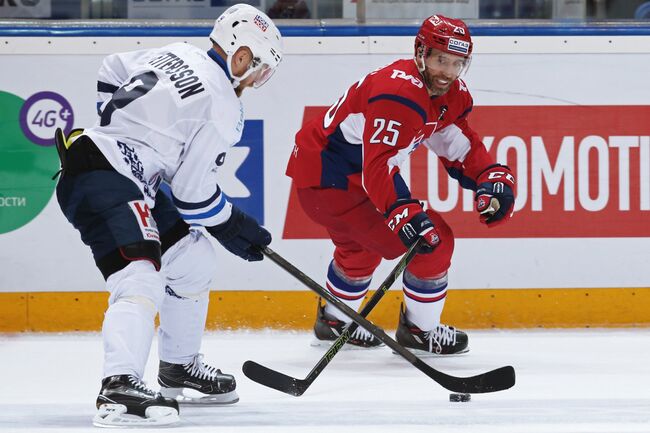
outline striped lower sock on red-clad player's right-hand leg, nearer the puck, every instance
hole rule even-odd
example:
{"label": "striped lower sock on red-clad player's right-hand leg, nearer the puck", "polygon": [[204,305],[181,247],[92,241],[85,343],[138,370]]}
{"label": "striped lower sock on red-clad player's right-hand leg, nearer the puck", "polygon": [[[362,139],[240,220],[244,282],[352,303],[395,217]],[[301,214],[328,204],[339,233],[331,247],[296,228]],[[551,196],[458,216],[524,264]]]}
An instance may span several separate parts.
{"label": "striped lower sock on red-clad player's right-hand leg, nearer the puck", "polygon": [[408,270],[402,278],[406,318],[423,331],[440,324],[440,315],[447,297],[447,272],[421,279]]}

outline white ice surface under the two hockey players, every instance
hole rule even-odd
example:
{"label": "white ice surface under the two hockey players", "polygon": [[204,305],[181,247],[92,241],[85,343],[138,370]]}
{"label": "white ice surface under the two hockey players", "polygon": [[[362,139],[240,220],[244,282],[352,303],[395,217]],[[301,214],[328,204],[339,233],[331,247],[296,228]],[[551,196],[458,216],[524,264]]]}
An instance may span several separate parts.
{"label": "white ice surface under the two hockey players", "polygon": [[[650,432],[650,330],[472,331],[467,355],[431,359],[470,376],[511,364],[517,384],[471,402],[389,349],[337,355],[302,397],[250,381],[247,359],[304,378],[323,354],[307,332],[206,335],[206,361],[238,380],[240,402],[182,408],[174,432],[626,433]],[[156,386],[156,347],[145,380]],[[97,432],[98,334],[0,336],[0,432]],[[147,429],[151,431],[152,429]],[[131,430],[133,431],[133,430]]]}

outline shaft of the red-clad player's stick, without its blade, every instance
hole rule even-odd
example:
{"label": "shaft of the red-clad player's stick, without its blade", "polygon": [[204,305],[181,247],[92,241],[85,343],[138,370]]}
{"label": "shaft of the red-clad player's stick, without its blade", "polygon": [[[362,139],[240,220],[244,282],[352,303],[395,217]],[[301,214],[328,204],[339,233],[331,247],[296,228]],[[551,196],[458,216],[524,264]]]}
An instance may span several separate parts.
{"label": "shaft of the red-clad player's stick, without its blade", "polygon": [[[393,283],[395,283],[395,280],[404,272],[404,269],[408,266],[408,264],[411,262],[413,257],[417,254],[417,248],[420,245],[420,242],[422,241],[422,238],[418,239],[416,243],[411,245],[411,247],[408,249],[408,251],[402,256],[402,258],[397,262],[397,265],[393,268],[392,271],[388,274],[386,279],[384,280],[383,283],[379,286],[377,291],[375,292],[374,295],[368,299],[368,302],[364,305],[364,307],[361,309],[359,312],[359,315],[361,317],[367,317],[368,314],[375,308],[375,306],[379,303],[381,298],[386,294],[388,289],[391,288]],[[341,350],[341,348],[345,345],[345,343],[348,342],[350,337],[352,336],[352,333],[359,327],[359,324],[356,322],[352,322],[350,326],[346,327],[343,333],[332,343],[332,347],[329,348],[327,352],[325,352],[325,355],[318,361],[318,363],[314,366],[314,368],[311,369],[307,377],[304,379],[302,382],[303,384],[303,390],[302,392],[305,392],[307,388],[316,380],[316,378],[321,374],[321,372],[327,367],[327,364],[329,364],[332,359],[336,356],[336,354]]]}

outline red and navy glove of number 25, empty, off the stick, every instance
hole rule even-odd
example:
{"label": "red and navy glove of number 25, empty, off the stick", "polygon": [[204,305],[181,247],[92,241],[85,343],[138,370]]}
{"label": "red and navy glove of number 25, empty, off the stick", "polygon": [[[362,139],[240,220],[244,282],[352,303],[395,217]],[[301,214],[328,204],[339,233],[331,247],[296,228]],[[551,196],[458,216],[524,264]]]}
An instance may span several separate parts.
{"label": "red and navy glove of number 25, empty, off the stick", "polygon": [[505,223],[514,212],[515,177],[506,165],[494,164],[476,179],[476,211],[482,223],[494,227]]}

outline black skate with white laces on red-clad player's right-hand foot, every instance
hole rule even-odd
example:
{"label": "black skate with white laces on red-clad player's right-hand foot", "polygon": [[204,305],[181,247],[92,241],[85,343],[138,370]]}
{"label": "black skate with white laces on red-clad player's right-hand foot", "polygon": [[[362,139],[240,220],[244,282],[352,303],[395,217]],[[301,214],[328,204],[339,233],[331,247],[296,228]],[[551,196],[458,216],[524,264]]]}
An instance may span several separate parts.
{"label": "black skate with white laces on red-clad player's right-hand foot", "polygon": [[469,352],[466,333],[443,324],[431,331],[423,331],[408,321],[403,306],[400,309],[395,339],[420,356],[458,355]]}

